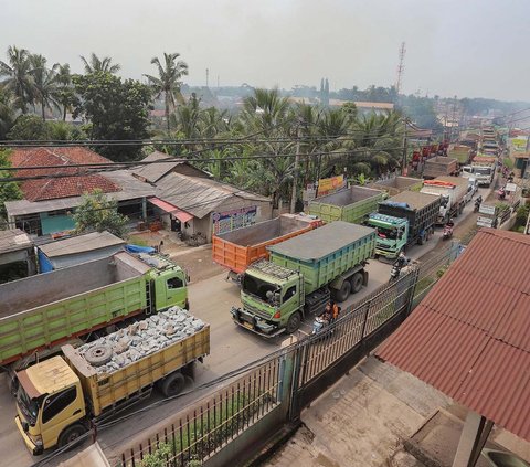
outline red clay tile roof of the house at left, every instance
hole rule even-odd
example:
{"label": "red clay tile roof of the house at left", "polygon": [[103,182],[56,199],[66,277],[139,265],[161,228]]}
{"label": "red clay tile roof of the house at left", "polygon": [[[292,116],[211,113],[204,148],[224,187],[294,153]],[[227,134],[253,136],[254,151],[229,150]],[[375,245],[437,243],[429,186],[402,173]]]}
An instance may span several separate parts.
{"label": "red clay tile roof of the house at left", "polygon": [[[64,169],[20,170],[18,177],[35,177],[49,174],[75,176],[77,163],[108,163],[110,160],[83,147],[68,148],[20,148],[11,152],[11,164],[19,167],[64,166]],[[28,201],[54,200],[59,198],[78,197],[84,192],[100,189],[105,193],[120,191],[121,188],[105,177],[91,173],[78,177],[62,177],[50,179],[26,180],[21,184]]]}

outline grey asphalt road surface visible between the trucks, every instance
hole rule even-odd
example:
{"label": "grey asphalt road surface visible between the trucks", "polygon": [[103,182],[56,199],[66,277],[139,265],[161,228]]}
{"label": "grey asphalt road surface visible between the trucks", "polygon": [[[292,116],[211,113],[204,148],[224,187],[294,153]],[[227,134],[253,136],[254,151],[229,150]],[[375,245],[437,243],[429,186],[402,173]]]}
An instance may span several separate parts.
{"label": "grey asphalt road surface visible between the trucks", "polygon": [[[486,199],[489,191],[488,189],[480,189],[479,194],[483,195],[483,199]],[[473,202],[467,204],[464,215],[456,219],[455,224],[463,222],[466,215],[473,212]],[[414,259],[422,257],[438,244],[441,237],[442,231],[437,229],[430,242],[421,246],[410,247],[407,256]],[[390,277],[390,264],[372,259],[368,266],[370,276],[368,286],[359,294],[350,296],[341,306],[351,305],[385,284]],[[232,306],[240,304],[240,289],[233,283],[226,282],[225,277],[226,274],[223,273],[190,285],[191,311],[211,326],[211,354],[204,360],[203,364],[199,363],[197,365],[194,384],[191,381],[188,384],[188,390],[191,393],[161,406],[138,413],[131,418],[98,433],[99,444],[107,455],[120,453],[124,443],[141,436],[142,431],[152,429],[152,426],[157,424],[163,426],[163,420],[168,414],[174,414],[194,400],[206,395],[215,386],[199,391],[193,391],[193,388],[210,383],[227,372],[266,357],[280,348],[282,343],[290,340],[289,336],[266,340],[234,325],[230,309]],[[311,320],[305,322],[300,328],[300,336],[309,333],[311,326]],[[222,383],[219,383],[219,385],[222,385]],[[160,399],[161,396],[155,393],[149,402],[136,405],[131,408],[131,412],[146,407]],[[33,457],[28,452],[17,431],[14,401],[7,390],[4,374],[0,374],[0,465],[11,467],[31,466],[39,458]],[[47,465],[54,466],[63,458],[61,456]]]}

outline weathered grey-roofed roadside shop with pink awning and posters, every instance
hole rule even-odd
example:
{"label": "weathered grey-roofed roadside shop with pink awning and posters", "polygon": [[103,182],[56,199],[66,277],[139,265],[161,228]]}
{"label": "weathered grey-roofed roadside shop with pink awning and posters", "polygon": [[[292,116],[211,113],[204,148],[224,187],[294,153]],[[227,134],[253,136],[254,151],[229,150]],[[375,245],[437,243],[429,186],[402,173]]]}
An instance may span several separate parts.
{"label": "weathered grey-roofed roadside shop with pink awning and posters", "polygon": [[156,188],[148,199],[163,225],[189,236],[229,232],[272,217],[268,198],[215,181],[182,159],[153,152],[147,166],[131,169],[135,177]]}

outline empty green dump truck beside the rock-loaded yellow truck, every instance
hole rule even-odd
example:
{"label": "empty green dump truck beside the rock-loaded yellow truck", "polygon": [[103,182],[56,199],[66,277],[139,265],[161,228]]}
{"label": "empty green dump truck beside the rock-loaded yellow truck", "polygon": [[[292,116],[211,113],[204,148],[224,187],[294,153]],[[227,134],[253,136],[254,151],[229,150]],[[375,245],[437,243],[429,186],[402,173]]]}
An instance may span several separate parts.
{"label": "empty green dump truck beside the rock-loaded yellow truck", "polygon": [[119,252],[0,285],[0,365],[25,368],[123,321],[188,308],[186,272],[160,255]]}

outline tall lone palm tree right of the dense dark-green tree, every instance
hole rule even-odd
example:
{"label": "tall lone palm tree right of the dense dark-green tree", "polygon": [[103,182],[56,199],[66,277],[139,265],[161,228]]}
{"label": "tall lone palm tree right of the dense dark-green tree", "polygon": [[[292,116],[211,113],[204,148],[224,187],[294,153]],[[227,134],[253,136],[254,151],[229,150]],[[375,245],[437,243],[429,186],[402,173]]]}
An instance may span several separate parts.
{"label": "tall lone palm tree right of the dense dark-green tree", "polygon": [[176,100],[183,103],[182,95],[180,94],[180,85],[182,82],[180,78],[188,75],[188,64],[181,60],[177,60],[180,56],[179,53],[163,53],[163,64],[155,56],[151,59],[151,64],[156,65],[158,71],[158,77],[152,75],[144,75],[149,79],[150,85],[155,89],[156,97],[159,98],[163,93],[163,102],[166,105],[166,121],[168,124],[168,132],[170,130],[169,125],[169,108],[174,109]]}

